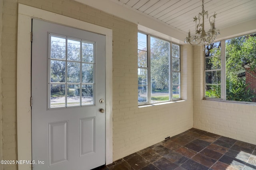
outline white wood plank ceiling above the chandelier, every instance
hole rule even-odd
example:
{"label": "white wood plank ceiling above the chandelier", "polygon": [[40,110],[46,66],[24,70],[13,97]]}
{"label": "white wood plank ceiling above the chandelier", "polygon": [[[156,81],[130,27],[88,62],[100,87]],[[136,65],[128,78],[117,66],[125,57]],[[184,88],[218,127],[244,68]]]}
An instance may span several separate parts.
{"label": "white wood plank ceiling above the chandelier", "polygon": [[[160,20],[176,29],[195,31],[193,18],[202,12],[202,0],[113,0],[154,20]],[[256,19],[256,0],[204,0],[209,16],[216,12],[216,27],[222,29]],[[205,21],[205,29],[210,29]]]}

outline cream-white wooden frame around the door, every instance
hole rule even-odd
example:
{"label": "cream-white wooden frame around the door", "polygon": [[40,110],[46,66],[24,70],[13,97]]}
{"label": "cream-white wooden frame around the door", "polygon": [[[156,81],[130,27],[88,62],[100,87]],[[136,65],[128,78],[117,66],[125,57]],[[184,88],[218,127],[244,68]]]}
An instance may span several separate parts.
{"label": "cream-white wooden frame around the door", "polygon": [[[18,160],[32,160],[31,145],[31,41],[32,18],[38,18],[94,33],[106,35],[106,164],[113,162],[112,141],[112,30],[18,4],[17,43],[17,138]],[[19,170],[30,170],[30,164],[19,164]]]}

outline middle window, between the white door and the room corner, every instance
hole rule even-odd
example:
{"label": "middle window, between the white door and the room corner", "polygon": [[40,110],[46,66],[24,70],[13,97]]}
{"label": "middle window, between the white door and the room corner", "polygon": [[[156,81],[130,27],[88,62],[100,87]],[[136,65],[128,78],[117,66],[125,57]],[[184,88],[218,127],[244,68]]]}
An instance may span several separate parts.
{"label": "middle window, between the white door and the room corner", "polygon": [[180,99],[180,46],[138,32],[138,103]]}

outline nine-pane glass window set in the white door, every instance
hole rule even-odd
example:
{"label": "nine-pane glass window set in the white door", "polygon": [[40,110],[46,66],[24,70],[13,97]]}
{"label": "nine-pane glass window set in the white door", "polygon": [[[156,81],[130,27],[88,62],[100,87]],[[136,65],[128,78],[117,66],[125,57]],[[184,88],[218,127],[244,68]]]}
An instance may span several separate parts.
{"label": "nine-pane glass window set in the white door", "polygon": [[94,45],[49,33],[49,109],[94,104]]}

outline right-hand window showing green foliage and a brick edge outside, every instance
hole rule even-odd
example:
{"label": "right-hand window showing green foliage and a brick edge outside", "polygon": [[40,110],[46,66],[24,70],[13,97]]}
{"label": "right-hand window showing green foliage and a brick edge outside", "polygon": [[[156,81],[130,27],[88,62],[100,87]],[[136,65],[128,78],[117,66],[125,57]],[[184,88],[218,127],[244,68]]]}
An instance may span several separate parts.
{"label": "right-hand window showing green foliage and a brick edge outside", "polygon": [[255,54],[256,34],[206,46],[205,97],[256,102]]}

